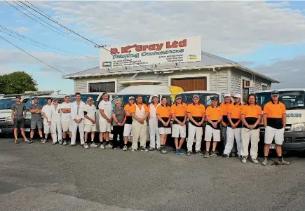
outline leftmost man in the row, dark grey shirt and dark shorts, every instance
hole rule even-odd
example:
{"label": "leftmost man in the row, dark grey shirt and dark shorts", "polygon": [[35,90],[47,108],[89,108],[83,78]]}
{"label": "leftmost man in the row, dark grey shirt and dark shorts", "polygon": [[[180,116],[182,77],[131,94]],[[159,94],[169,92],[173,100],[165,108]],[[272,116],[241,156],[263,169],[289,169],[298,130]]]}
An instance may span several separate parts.
{"label": "leftmost man in the row, dark grey shirt and dark shorts", "polygon": [[27,109],[25,108],[25,104],[21,102],[20,96],[16,96],[16,102],[12,104],[11,110],[11,119],[14,125],[15,144],[19,144],[18,127],[20,127],[21,135],[25,142],[32,143],[29,142],[27,137],[25,137],[25,116],[27,115]]}

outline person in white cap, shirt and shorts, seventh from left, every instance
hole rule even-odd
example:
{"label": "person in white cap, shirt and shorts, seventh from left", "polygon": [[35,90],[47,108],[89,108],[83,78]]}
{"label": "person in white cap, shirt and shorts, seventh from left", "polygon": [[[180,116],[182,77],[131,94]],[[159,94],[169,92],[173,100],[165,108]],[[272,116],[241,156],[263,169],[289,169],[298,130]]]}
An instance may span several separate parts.
{"label": "person in white cap, shirt and shorts, seventh from left", "polygon": [[87,98],[87,104],[85,108],[83,109],[83,115],[85,116],[85,147],[86,149],[89,148],[88,146],[88,132],[91,132],[91,144],[90,147],[97,147],[97,145],[94,143],[94,135],[96,131],[96,107],[93,104],[92,97]]}

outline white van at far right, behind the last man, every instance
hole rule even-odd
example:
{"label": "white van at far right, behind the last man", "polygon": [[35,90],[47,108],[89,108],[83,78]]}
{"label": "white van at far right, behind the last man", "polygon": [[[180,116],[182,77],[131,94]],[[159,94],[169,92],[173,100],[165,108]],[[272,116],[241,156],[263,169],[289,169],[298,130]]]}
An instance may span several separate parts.
{"label": "white van at far right, behind the last man", "polygon": [[[264,90],[255,93],[257,104],[264,109],[264,105],[271,101],[271,92]],[[305,88],[278,89],[279,101],[286,107],[286,128],[284,132],[284,151],[305,151]],[[260,128],[259,147],[264,146],[265,128]],[[271,144],[270,149],[275,149],[276,144]],[[261,149],[259,149],[261,151]]]}

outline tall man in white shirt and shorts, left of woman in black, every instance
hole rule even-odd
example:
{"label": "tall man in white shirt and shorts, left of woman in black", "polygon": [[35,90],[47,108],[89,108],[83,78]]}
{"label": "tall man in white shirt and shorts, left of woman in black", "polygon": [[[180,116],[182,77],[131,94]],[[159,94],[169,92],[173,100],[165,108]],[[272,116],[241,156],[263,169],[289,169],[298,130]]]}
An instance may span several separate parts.
{"label": "tall man in white shirt and shorts, left of woman in black", "polygon": [[[102,101],[98,104],[98,108],[100,110],[100,149],[109,148],[112,149],[111,144],[109,144],[109,134],[111,132],[111,121],[112,121],[112,105],[109,102],[109,95],[107,93],[103,93]],[[103,137],[105,135],[106,146],[103,144]]]}

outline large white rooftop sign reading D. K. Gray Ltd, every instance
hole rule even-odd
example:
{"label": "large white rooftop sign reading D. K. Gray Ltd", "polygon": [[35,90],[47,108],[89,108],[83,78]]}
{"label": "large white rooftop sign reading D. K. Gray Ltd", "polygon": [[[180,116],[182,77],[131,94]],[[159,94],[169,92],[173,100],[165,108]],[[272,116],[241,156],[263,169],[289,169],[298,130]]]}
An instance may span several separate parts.
{"label": "large white rooftop sign reading D. K. Gray Ltd", "polygon": [[201,61],[200,36],[105,48],[100,48],[100,69]]}

